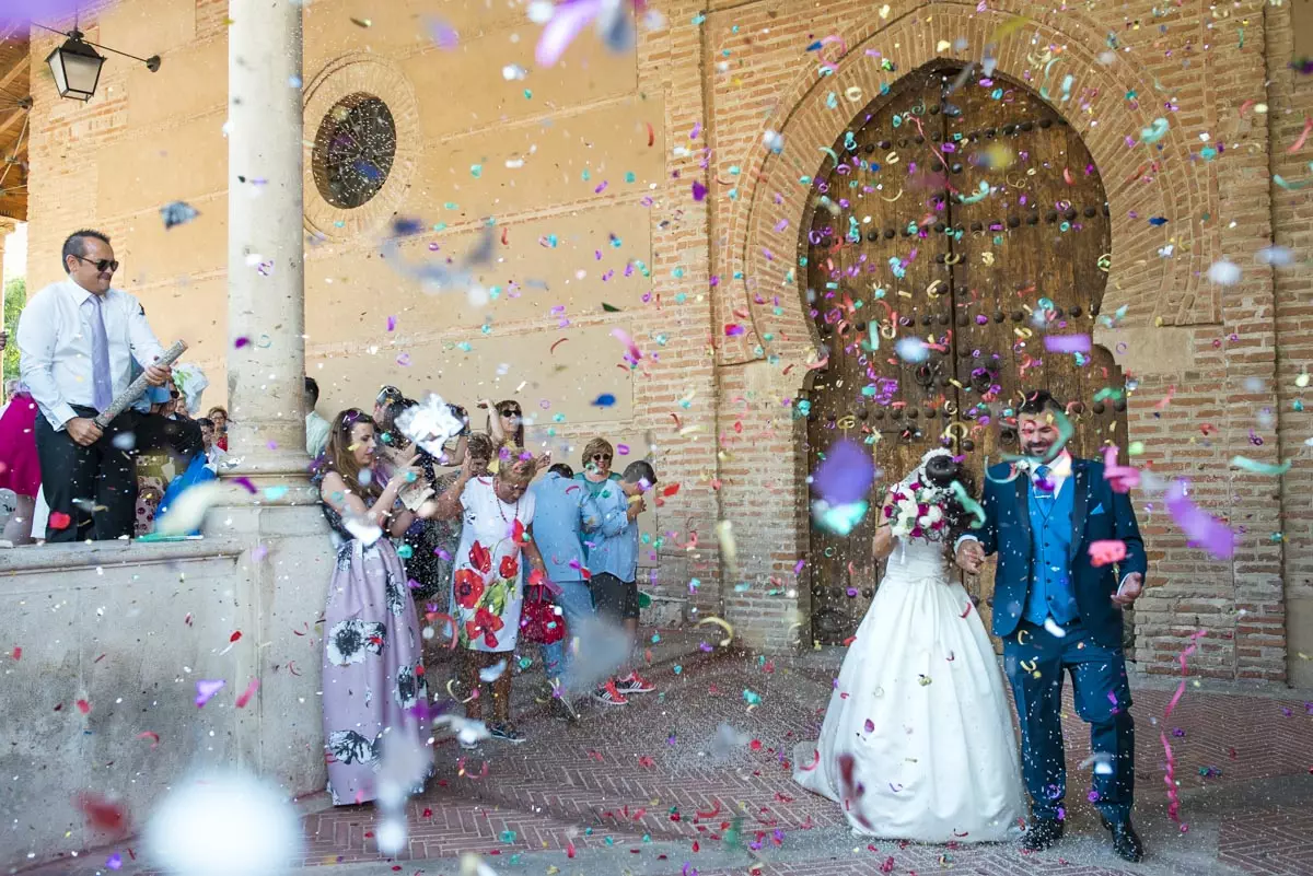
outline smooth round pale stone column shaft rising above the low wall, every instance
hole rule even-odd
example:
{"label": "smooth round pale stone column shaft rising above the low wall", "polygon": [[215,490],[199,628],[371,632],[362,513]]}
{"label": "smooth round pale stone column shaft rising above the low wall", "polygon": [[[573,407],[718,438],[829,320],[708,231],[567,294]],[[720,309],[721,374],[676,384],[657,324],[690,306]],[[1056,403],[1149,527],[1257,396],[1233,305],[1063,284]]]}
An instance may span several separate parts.
{"label": "smooth round pale stone column shaft rising above the low wall", "polygon": [[[305,483],[301,4],[231,0],[228,452],[232,476]],[[285,500],[305,501],[291,489]],[[278,500],[276,500],[278,501]]]}

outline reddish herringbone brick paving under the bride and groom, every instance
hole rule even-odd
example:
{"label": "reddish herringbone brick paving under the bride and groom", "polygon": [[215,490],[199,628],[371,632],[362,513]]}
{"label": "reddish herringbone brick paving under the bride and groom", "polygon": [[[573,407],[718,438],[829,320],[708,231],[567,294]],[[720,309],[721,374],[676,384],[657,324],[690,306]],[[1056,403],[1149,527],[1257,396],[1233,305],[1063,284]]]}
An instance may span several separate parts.
{"label": "reddish herringbone brick paving under the bride and groom", "polygon": [[[437,775],[410,803],[406,854],[378,855],[373,808],[320,808],[305,818],[301,863],[370,876],[456,876],[466,854],[498,873],[555,867],[561,876],[1313,873],[1313,707],[1196,687],[1166,728],[1183,732],[1171,742],[1188,833],[1166,817],[1158,723],[1173,691],[1134,691],[1136,821],[1150,850],[1138,867],[1107,850],[1074,768],[1067,838],[1043,855],[853,837],[836,804],[793,784],[786,759],[794,742],[814,738],[840,657],[676,657],[650,673],[660,695],[635,696],[625,708],[590,707],[575,727],[549,720],[529,699],[532,708],[520,711],[529,736],[521,746],[487,742],[466,755],[453,741],[439,744]],[[762,696],[751,711],[746,688]],[[754,742],[717,753],[721,724]],[[1088,736],[1070,702],[1065,727],[1075,765],[1088,753]],[[741,845],[726,842],[735,826]]]}

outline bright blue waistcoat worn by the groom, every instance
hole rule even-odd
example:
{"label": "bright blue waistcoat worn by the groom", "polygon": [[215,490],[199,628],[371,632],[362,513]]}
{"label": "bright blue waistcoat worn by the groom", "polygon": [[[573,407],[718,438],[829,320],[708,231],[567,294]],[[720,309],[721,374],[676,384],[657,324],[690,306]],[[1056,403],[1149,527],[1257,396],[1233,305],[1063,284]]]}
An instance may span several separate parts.
{"label": "bright blue waistcoat worn by the groom", "polygon": [[1023,616],[1037,626],[1050,615],[1062,626],[1081,615],[1067,563],[1075,489],[1075,477],[1069,476],[1057,497],[1037,496],[1039,490],[1033,487],[1027,490],[1027,511],[1031,517],[1031,587]]}

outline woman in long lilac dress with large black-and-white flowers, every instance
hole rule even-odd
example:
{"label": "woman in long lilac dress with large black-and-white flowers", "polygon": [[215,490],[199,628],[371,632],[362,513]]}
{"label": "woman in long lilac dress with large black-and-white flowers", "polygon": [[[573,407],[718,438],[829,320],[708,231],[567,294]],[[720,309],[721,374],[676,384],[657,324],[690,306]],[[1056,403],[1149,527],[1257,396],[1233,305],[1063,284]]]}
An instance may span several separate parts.
{"label": "woman in long lilac dress with large black-and-white flowers", "polygon": [[399,538],[415,519],[397,493],[418,473],[407,463],[379,484],[376,452],[373,418],[343,410],[318,475],[324,517],[341,540],[324,608],[323,661],[328,791],[339,806],[378,796],[383,746],[421,750],[429,738],[419,619],[387,538]]}

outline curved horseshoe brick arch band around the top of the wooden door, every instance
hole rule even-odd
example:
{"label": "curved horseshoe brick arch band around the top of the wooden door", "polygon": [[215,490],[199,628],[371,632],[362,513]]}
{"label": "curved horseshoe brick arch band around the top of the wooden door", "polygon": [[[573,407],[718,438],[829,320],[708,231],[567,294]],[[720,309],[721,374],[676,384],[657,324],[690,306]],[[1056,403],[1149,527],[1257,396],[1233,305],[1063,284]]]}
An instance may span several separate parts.
{"label": "curved horseshoe brick arch band around the top of the wooden door", "polygon": [[[927,10],[932,12],[928,20]],[[821,147],[840,138],[851,119],[878,100],[882,84],[892,85],[905,72],[934,62],[969,63],[966,55],[978,55],[991,38],[998,43],[997,71],[1040,92],[1081,134],[1103,174],[1112,214],[1104,313],[1127,306],[1127,321],[1140,325],[1217,320],[1220,299],[1200,282],[1211,247],[1190,222],[1200,214],[1205,197],[1192,174],[1170,170],[1188,167],[1190,143],[1171,123],[1153,144],[1140,142],[1142,130],[1152,129],[1159,115],[1170,119],[1171,113],[1150,104],[1158,94],[1155,84],[1130,60],[1116,55],[1109,64],[1100,62],[1107,50],[1103,31],[1071,12],[1062,13],[1062,28],[1044,21],[1014,28],[1011,12],[978,13],[974,5],[957,3],[920,5],[888,22],[872,13],[871,20],[842,58],[822,51],[832,64],[831,75],[818,77],[806,70],[785,89],[780,110],[762,126],[763,135],[773,130],[784,136],[783,152],[771,152],[758,138],[744,161],[751,191],[730,214],[725,273],[734,278],[726,294],[734,307],[751,313],[752,332],[726,338],[723,362],[765,357],[779,357],[785,365],[807,361],[815,338],[802,308],[806,271],[798,268],[798,228],[814,206],[810,180],[829,161]],[[1011,33],[997,38],[1003,28]],[[952,45],[966,49],[955,52]],[[1032,72],[1035,67],[1039,75]],[[1112,113],[1094,117],[1087,111],[1096,93],[1109,92],[1132,97]],[[1138,96],[1144,100],[1136,102]],[[1098,101],[1100,110],[1106,104],[1106,97]],[[1154,167],[1155,160],[1163,169]],[[1169,223],[1150,226],[1152,216]],[[1178,257],[1161,257],[1166,247]],[[794,368],[788,391],[802,389],[806,374]]]}

